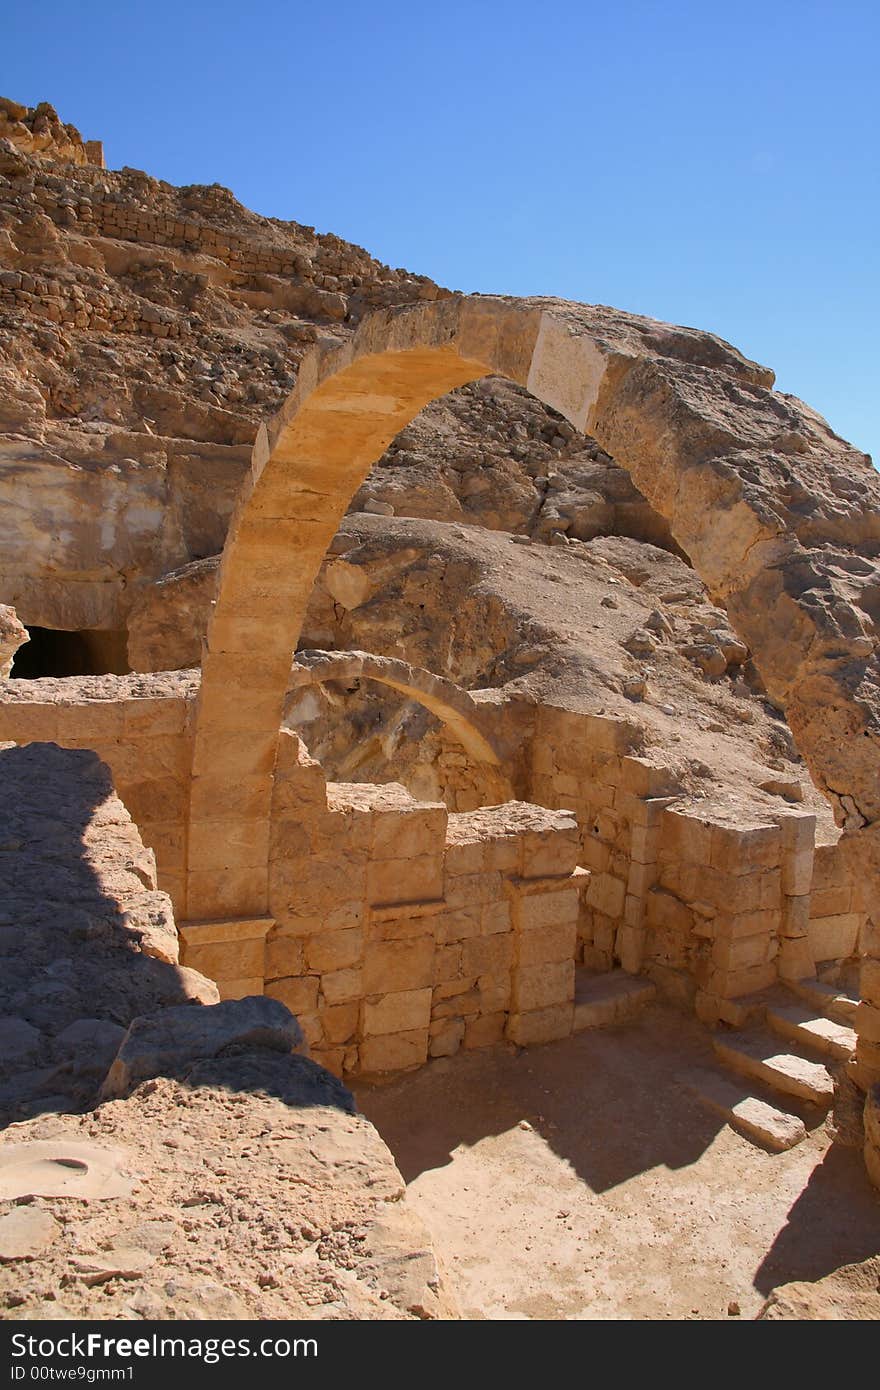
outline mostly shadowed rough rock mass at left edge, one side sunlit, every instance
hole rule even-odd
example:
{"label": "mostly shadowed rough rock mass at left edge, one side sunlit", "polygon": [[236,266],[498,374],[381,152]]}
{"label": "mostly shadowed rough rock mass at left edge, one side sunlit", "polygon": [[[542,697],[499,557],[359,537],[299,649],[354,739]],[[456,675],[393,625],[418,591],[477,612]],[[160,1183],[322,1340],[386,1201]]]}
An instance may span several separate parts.
{"label": "mostly shadowed rough rock mass at left edge, one side sunlit", "polygon": [[0,1113],[8,1120],[93,1102],[132,1019],[182,1004],[189,1012],[218,994],[177,963],[153,855],[95,753],[6,746],[0,771]]}

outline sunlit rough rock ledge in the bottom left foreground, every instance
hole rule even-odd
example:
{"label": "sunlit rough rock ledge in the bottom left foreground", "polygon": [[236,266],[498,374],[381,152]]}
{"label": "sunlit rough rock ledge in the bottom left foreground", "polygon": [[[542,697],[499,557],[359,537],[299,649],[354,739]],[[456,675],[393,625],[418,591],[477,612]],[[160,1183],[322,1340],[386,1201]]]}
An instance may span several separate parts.
{"label": "sunlit rough rock ledge in the bottom left foreground", "polygon": [[[4,1187],[4,1156],[21,1173],[35,1151],[32,1172],[86,1166],[85,1152],[125,1187],[85,1191],[76,1166],[64,1193],[26,1177]],[[25,1188],[29,1205],[10,1205]],[[388,1148],[342,1083],[298,1055],[250,1048],[85,1115],[13,1126],[0,1138],[0,1252],[21,1211],[56,1234],[0,1265],[11,1319],[99,1307],[111,1319],[457,1316]]]}

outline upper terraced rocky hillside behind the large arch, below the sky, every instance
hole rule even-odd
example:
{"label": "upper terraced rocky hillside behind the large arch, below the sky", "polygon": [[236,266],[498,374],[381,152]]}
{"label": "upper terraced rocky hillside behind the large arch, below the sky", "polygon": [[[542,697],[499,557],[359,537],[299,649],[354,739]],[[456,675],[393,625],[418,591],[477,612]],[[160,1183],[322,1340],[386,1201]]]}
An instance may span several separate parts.
{"label": "upper terraced rocky hillside behind the large arch, below the sky", "polygon": [[[222,548],[306,348],[445,291],[218,185],[89,163],[51,107],[0,113],[0,600],[120,632],[140,587]],[[506,382],[430,407],[353,509],[670,545],[594,441]]]}

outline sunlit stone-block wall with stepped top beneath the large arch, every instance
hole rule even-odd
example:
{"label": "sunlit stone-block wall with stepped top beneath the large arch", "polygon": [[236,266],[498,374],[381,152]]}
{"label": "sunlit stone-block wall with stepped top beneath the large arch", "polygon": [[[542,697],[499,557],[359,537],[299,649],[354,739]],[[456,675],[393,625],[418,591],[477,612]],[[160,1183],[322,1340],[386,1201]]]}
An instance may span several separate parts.
{"label": "sunlit stone-block wall with stepped top beneath the large arch", "polygon": [[[571,1031],[574,820],[520,802],[449,815],[396,784],[325,784],[284,734],[270,917],[188,924],[186,960],[221,992],[261,987],[338,1073],[393,1072]],[[238,924],[236,924],[238,926]]]}

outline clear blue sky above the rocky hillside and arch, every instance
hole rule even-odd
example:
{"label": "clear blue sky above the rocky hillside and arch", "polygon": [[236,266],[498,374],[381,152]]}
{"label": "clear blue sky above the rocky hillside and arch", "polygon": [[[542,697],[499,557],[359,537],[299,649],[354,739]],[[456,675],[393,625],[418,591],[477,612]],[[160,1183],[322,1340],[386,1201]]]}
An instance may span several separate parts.
{"label": "clear blue sky above the rocky hillside and arch", "polygon": [[710,328],[880,461],[877,0],[40,0],[0,92],[455,289]]}

